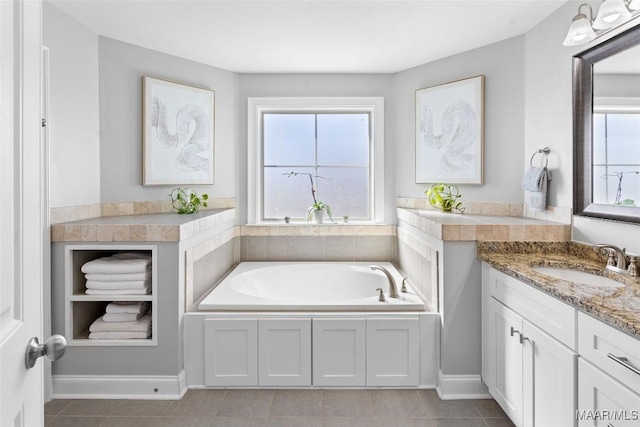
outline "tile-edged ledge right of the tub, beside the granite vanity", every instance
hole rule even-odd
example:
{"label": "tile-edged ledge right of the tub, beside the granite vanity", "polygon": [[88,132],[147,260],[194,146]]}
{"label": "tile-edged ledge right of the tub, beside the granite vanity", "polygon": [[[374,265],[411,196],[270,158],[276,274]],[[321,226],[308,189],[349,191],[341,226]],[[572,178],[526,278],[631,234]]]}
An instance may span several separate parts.
{"label": "tile-edged ledge right of the tub, beside the granite vanity", "polygon": [[398,221],[445,241],[568,241],[571,224],[527,218],[398,208]]}

